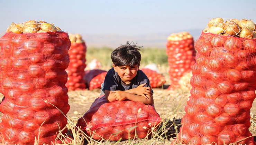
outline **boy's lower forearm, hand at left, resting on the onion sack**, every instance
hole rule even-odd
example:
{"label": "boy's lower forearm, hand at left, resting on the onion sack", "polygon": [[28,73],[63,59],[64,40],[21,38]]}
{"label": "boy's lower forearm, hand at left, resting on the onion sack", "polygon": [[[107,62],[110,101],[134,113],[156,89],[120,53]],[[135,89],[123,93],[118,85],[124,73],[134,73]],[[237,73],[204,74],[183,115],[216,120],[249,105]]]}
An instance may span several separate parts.
{"label": "boy's lower forearm, hand at left, resting on the onion sack", "polygon": [[148,99],[146,99],[143,96],[131,94],[131,93],[128,93],[125,91],[116,90],[116,91],[111,91],[111,93],[112,93],[111,96],[113,96],[115,98],[115,100],[118,100],[118,101],[128,99],[128,100],[135,101],[135,102],[142,102],[146,105],[152,105],[154,103],[153,96],[149,96],[149,95],[146,95],[148,98]]}

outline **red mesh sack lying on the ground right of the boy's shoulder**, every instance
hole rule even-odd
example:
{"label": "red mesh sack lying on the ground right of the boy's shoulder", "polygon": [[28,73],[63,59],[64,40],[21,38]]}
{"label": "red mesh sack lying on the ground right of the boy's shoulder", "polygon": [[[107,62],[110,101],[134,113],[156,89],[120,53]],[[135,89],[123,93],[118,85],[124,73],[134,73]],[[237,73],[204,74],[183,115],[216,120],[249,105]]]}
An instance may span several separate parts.
{"label": "red mesh sack lying on the ground right of the boy's shoulder", "polygon": [[142,70],[148,77],[151,88],[162,87],[162,85],[166,82],[164,76],[158,74],[154,70],[148,68],[141,68],[140,70]]}

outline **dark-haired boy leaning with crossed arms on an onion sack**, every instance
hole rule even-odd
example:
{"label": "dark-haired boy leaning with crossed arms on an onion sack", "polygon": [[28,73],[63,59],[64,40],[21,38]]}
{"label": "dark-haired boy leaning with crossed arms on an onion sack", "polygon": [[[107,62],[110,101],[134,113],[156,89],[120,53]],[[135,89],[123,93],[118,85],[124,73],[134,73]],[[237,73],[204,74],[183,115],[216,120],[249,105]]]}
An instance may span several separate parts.
{"label": "dark-haired boy leaning with crossed arms on an onion sack", "polygon": [[153,90],[149,79],[139,70],[141,47],[136,44],[121,45],[111,53],[113,67],[108,71],[101,84],[101,95],[105,94],[108,102],[131,100],[152,105]]}

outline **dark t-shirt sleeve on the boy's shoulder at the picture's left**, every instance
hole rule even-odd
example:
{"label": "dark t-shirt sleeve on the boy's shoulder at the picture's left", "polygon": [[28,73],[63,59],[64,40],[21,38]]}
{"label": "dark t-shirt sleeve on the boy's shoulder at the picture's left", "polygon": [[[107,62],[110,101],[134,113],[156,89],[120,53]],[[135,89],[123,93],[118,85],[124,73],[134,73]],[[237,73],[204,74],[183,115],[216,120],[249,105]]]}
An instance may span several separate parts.
{"label": "dark t-shirt sleeve on the boy's shoulder at the picture's left", "polygon": [[103,85],[103,90],[115,91],[117,90],[118,82],[113,76],[106,75]]}

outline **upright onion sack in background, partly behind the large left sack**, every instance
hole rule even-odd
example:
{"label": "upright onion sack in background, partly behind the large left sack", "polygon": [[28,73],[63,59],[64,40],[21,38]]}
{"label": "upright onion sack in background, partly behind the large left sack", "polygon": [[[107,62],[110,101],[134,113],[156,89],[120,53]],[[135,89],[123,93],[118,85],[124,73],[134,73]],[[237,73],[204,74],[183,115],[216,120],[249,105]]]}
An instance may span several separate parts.
{"label": "upright onion sack in background, partly behind the large left sack", "polygon": [[69,37],[71,40],[71,47],[68,50],[70,64],[66,69],[68,75],[66,86],[68,90],[85,89],[83,77],[86,67],[86,45],[79,34],[69,34]]}

